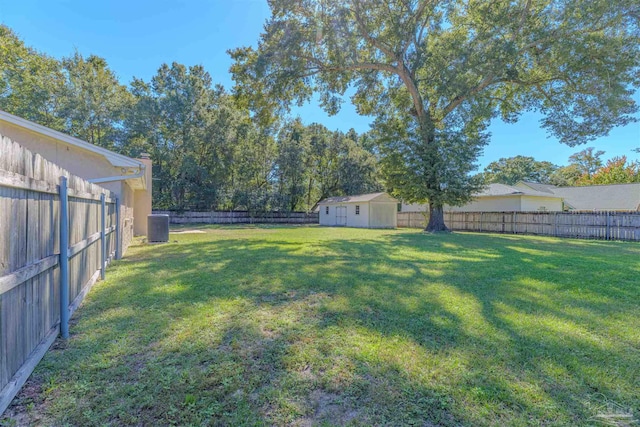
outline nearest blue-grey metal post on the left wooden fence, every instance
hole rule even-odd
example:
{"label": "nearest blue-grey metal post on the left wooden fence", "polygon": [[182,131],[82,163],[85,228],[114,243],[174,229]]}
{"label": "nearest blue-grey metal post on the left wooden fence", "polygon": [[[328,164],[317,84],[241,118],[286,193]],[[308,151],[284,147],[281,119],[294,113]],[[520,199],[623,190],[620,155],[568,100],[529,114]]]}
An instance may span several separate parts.
{"label": "nearest blue-grey metal post on the left wooden fence", "polygon": [[69,195],[60,177],[60,335],[69,338]]}

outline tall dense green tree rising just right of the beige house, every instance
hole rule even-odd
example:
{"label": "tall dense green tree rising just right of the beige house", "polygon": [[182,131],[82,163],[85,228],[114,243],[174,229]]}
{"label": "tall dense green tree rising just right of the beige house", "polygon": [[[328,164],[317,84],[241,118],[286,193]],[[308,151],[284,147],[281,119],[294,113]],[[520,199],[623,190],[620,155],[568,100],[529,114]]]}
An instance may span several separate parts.
{"label": "tall dense green tree rising just right of the beige house", "polygon": [[134,80],[132,88],[128,146],[152,154],[158,207],[230,206],[233,161],[248,134],[248,113],[236,108],[224,88],[213,87],[201,66],[164,64],[150,83]]}

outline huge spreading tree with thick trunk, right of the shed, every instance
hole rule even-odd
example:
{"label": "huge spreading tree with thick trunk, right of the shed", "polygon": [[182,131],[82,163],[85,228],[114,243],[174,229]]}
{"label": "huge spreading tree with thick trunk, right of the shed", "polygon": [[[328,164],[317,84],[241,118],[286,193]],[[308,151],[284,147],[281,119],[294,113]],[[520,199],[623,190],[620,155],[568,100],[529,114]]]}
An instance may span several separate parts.
{"label": "huge spreading tree with thick trunk, right of the shed", "polygon": [[477,189],[465,172],[493,117],[539,111],[569,145],[634,120],[635,1],[269,4],[257,50],[231,52],[237,95],[268,111],[317,91],[333,113],[353,85],[358,112],[377,117],[378,134],[391,132],[381,139],[387,186],[429,202],[427,230],[445,229],[443,204]]}

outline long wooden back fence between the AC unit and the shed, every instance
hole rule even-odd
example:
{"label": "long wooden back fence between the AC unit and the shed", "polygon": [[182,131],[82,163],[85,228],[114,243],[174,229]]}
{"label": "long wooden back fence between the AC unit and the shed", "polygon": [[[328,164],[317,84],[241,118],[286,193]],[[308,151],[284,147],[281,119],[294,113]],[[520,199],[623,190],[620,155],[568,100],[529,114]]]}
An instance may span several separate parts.
{"label": "long wooden back fence between the AC unit and the shed", "polygon": [[171,224],[317,224],[319,222],[319,214],[315,212],[153,211],[153,213],[169,215]]}

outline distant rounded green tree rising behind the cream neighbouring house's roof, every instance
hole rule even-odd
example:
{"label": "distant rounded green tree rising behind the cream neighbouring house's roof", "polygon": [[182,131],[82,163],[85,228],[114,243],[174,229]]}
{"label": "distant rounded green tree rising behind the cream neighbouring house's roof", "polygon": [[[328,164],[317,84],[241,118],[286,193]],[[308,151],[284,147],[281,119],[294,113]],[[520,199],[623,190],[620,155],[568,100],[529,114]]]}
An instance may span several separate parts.
{"label": "distant rounded green tree rising behind the cream neighbouring house's roof", "polygon": [[518,181],[550,184],[551,176],[557,169],[558,166],[551,162],[539,162],[533,157],[515,156],[489,163],[482,175],[487,184],[497,182],[513,185]]}

